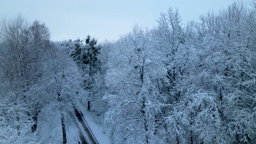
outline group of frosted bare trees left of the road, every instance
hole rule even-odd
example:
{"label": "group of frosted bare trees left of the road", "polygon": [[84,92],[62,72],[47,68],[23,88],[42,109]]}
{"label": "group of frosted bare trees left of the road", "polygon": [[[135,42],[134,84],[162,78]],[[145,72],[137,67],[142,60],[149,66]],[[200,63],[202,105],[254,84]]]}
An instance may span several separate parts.
{"label": "group of frosted bare trees left of the road", "polygon": [[0,143],[36,142],[30,133],[46,108],[61,113],[66,143],[66,113],[87,99],[77,65],[49,40],[44,23],[30,24],[19,15],[0,28]]}

